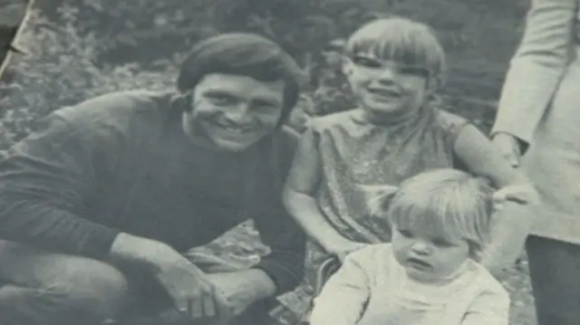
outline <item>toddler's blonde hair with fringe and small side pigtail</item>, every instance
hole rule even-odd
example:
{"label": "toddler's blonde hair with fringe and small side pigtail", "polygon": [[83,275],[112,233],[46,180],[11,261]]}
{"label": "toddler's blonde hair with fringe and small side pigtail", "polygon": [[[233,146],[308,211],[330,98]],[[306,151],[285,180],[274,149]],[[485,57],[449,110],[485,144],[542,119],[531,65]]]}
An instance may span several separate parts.
{"label": "toddler's blonde hair with fringe and small side pigtail", "polygon": [[476,260],[488,242],[493,188],[483,178],[456,169],[436,169],[411,177],[393,194],[378,196],[373,214],[392,226],[428,229],[466,240]]}

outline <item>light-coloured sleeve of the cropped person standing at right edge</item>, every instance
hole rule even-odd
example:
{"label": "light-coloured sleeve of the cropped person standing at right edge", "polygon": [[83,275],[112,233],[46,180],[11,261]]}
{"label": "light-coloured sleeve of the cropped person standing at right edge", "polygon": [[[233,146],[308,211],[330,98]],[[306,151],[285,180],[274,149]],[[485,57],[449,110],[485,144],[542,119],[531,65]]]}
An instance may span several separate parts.
{"label": "light-coloured sleeve of the cropped person standing at right edge", "polygon": [[532,0],[492,135],[506,132],[529,144],[569,63],[577,11],[577,0]]}

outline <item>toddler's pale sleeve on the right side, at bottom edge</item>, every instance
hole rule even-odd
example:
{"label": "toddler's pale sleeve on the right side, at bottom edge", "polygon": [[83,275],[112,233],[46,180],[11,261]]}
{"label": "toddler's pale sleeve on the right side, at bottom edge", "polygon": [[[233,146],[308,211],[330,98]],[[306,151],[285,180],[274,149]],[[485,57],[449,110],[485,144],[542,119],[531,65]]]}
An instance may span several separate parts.
{"label": "toddler's pale sleeve on the right side, at bottom edge", "polygon": [[488,290],[478,295],[461,325],[508,325],[509,296],[504,290]]}

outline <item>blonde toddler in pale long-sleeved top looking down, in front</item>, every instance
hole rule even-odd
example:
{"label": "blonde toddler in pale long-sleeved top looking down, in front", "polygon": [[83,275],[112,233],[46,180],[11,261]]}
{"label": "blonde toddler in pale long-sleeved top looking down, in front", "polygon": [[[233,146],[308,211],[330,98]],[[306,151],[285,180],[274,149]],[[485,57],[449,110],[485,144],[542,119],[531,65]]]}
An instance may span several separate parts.
{"label": "blonde toddler in pale long-sleeved top looking down, in front", "polygon": [[507,292],[477,262],[491,195],[481,179],[439,169],[382,196],[391,244],[345,259],[315,299],[311,325],[507,325]]}

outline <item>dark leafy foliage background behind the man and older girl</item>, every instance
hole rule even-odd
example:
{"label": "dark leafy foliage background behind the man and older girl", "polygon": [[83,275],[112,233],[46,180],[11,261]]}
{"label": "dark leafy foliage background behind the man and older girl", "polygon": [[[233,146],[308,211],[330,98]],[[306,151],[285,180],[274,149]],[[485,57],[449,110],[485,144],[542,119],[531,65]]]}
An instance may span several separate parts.
{"label": "dark leafy foliage background behind the man and older girl", "polygon": [[[301,129],[308,116],[352,106],[328,44],[383,14],[433,26],[449,60],[444,105],[487,131],[527,5],[528,0],[36,0],[22,42],[29,53],[0,83],[0,148],[64,105],[109,91],[172,88],[191,46],[227,31],[271,37],[309,72],[291,121]],[[231,243],[239,247],[248,234],[254,235],[230,235],[218,244],[229,247],[220,252],[231,253]],[[513,323],[535,324],[525,260],[506,285]]]}

